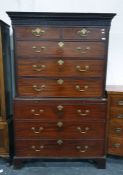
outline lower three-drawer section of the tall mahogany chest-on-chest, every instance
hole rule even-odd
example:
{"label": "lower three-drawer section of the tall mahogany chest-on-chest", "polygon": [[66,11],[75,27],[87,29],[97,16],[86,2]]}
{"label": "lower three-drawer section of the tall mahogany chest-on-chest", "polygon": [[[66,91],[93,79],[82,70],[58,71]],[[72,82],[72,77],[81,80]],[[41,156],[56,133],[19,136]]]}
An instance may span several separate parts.
{"label": "lower three-drawer section of the tall mahogany chest-on-chest", "polygon": [[16,156],[105,154],[106,101],[15,99],[14,106]]}

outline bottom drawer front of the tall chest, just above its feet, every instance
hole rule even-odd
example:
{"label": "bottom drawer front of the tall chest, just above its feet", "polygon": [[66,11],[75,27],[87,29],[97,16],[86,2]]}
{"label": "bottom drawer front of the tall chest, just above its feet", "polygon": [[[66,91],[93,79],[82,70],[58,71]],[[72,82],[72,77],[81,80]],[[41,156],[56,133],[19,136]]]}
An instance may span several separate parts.
{"label": "bottom drawer front of the tall chest, just above its feet", "polygon": [[16,140],[15,149],[16,156],[23,157],[95,157],[104,156],[104,141]]}

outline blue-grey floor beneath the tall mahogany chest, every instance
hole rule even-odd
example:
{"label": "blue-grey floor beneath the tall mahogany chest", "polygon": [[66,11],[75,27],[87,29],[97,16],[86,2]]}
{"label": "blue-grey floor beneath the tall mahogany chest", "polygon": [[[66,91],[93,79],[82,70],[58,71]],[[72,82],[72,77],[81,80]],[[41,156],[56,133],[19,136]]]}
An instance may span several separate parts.
{"label": "blue-grey floor beneath the tall mahogany chest", "polygon": [[0,175],[123,175],[123,158],[108,157],[106,169],[97,169],[92,162],[26,162],[21,169],[0,158]]}

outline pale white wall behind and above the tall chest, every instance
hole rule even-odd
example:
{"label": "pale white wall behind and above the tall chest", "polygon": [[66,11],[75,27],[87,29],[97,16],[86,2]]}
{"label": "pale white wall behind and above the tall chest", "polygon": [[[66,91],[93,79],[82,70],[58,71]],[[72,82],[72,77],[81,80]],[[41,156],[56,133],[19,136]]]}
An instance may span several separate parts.
{"label": "pale white wall behind and above the tall chest", "polygon": [[123,0],[0,0],[0,18],[10,24],[6,11],[117,13],[110,32],[107,84],[123,85]]}

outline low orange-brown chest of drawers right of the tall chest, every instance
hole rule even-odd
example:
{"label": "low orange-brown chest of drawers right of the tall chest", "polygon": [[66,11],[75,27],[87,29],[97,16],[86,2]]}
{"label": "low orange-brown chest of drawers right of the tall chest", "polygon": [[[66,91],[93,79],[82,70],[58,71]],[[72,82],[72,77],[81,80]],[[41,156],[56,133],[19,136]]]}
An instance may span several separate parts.
{"label": "low orange-brown chest of drawers right of the tall chest", "polygon": [[108,153],[123,156],[123,86],[107,86]]}

